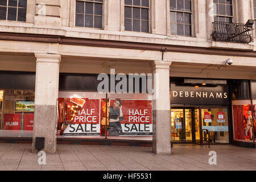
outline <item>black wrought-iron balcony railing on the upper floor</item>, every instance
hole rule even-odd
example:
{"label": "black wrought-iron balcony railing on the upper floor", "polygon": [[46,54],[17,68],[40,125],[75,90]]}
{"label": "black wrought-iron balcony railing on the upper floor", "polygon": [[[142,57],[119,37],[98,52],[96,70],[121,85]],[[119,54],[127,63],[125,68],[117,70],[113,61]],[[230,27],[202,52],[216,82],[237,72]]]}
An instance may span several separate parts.
{"label": "black wrought-iron balcony railing on the upper floor", "polygon": [[250,34],[253,26],[248,22],[246,24],[213,22],[212,38],[222,42],[250,43],[253,40]]}

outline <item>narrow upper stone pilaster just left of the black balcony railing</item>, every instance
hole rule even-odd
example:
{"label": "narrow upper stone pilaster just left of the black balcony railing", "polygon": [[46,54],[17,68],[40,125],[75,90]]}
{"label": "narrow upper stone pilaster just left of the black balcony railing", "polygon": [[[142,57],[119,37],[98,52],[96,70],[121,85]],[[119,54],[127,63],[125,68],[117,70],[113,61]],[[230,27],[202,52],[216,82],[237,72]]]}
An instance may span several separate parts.
{"label": "narrow upper stone pilaster just left of the black balcony railing", "polygon": [[213,30],[213,23],[214,22],[214,3],[213,0],[207,0],[206,1],[206,14],[207,14],[207,39],[211,40],[212,36],[212,30]]}

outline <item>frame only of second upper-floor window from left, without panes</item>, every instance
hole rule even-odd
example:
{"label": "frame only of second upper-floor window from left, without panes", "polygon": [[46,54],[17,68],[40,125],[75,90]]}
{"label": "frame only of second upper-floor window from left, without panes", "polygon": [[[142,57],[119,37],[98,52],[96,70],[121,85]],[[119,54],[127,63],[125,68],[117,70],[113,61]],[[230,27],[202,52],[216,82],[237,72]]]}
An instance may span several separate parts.
{"label": "frame only of second upper-floor window from left, without panes", "polygon": [[[79,2],[84,2],[84,14],[81,14],[81,13],[76,13],[76,2],[79,1]],[[86,2],[89,2],[89,3],[93,3],[93,14],[89,14],[89,15],[92,15],[93,16],[93,27],[86,27],[85,26],[85,3]],[[105,22],[105,1],[102,0],[102,2],[100,1],[95,1],[95,0],[74,0],[73,1],[74,3],[74,7],[73,7],[73,10],[74,10],[74,19],[73,19],[73,26],[71,27],[77,27],[77,28],[93,28],[93,29],[97,29],[97,30],[104,30],[104,22]],[[95,9],[94,9],[94,6],[95,6],[95,3],[97,4],[101,4],[102,5],[102,15],[95,15]],[[77,26],[76,25],[76,14],[81,14],[84,16],[84,26]],[[94,16],[101,16],[101,28],[97,28],[97,27],[94,27]],[[71,22],[72,22],[72,19],[71,19]]]}

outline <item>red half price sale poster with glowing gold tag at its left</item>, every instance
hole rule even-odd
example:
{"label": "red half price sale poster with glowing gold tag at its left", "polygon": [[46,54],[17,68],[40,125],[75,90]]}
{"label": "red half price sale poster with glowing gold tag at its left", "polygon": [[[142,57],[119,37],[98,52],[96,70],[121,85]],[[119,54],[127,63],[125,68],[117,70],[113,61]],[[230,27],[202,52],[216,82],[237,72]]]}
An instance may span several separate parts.
{"label": "red half price sale poster with glowing gold tag at its left", "polygon": [[60,113],[60,118],[66,119],[61,127],[63,135],[100,136],[100,104],[100,99],[59,98],[60,107],[65,107]]}

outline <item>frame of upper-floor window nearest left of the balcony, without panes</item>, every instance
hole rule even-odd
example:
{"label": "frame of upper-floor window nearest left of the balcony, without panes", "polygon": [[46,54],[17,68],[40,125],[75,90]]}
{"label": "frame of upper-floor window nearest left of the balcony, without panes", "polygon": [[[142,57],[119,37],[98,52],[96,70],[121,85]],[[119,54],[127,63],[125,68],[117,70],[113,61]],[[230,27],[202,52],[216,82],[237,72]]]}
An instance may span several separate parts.
{"label": "frame of upper-floor window nearest left of the balcony, without panes", "polygon": [[[184,38],[195,38],[195,23],[197,22],[196,19],[195,19],[195,15],[196,15],[196,12],[195,12],[195,1],[194,0],[191,0],[191,11],[185,11],[185,10],[172,10],[171,7],[170,7],[170,4],[171,4],[171,0],[168,0],[168,3],[167,3],[167,17],[168,17],[168,20],[167,20],[167,32],[168,32],[168,35],[171,35],[171,36],[181,36],[181,37],[184,37]],[[176,5],[177,5],[177,1],[176,1]],[[184,4],[185,6],[185,4]],[[175,12],[175,13],[189,13],[191,14],[191,35],[188,36],[188,35],[185,35],[185,26],[184,26],[184,35],[177,35],[177,32],[176,34],[172,34],[171,33],[171,12]],[[176,15],[176,18],[177,18],[177,15]],[[183,17],[184,18],[184,17]],[[187,24],[187,23],[177,23],[175,22],[175,24]],[[176,31],[177,31],[177,26],[176,26]]]}

